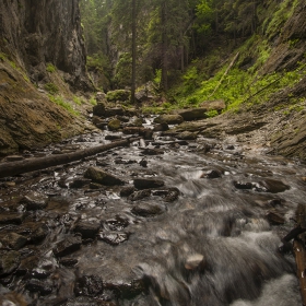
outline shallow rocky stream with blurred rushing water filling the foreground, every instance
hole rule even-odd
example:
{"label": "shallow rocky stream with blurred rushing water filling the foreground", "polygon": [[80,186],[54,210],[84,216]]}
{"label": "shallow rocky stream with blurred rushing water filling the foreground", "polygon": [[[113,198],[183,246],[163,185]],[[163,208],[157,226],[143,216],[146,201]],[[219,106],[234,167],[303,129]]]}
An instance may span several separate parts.
{"label": "shallow rocky stream with blurred rushing water filling the foreground", "polygon": [[[23,156],[117,137],[127,136],[93,132]],[[84,177],[90,167],[118,181],[94,183]],[[0,302],[302,305],[294,256],[281,239],[305,204],[303,177],[305,164],[231,139],[178,141],[156,132],[129,148],[1,179]]]}

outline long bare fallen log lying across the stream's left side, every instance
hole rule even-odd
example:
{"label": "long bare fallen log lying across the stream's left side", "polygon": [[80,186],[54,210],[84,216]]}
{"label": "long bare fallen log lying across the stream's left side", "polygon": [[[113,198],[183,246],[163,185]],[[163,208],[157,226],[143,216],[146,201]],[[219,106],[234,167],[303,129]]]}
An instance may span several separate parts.
{"label": "long bare fallen log lying across the stream's left side", "polygon": [[58,165],[69,164],[82,158],[102,153],[118,146],[127,146],[131,142],[139,140],[139,138],[130,138],[120,141],[115,141],[108,144],[102,144],[94,148],[79,150],[72,153],[64,153],[59,155],[45,156],[39,158],[28,158],[19,162],[9,162],[0,164],[0,178],[35,172],[54,167]]}

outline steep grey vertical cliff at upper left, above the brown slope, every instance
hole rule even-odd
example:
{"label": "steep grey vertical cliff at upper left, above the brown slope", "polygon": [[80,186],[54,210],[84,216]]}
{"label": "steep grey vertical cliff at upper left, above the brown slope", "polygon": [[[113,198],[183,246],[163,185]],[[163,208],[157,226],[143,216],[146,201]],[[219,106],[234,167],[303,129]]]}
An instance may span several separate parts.
{"label": "steep grey vertical cliff at upper left, above the brown slope", "polygon": [[3,0],[0,48],[24,67],[34,82],[46,78],[50,62],[72,87],[89,90],[79,0]]}

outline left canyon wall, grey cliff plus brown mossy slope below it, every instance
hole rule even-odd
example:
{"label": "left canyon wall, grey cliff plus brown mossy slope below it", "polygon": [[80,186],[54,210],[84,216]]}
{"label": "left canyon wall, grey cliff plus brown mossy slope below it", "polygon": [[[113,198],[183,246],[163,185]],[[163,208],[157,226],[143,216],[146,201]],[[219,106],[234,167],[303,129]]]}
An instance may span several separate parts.
{"label": "left canyon wall, grey cliff plus brown mossy slope below it", "polygon": [[51,82],[71,101],[71,90],[92,89],[79,0],[1,0],[0,155],[84,131],[82,116],[49,99],[44,84]]}

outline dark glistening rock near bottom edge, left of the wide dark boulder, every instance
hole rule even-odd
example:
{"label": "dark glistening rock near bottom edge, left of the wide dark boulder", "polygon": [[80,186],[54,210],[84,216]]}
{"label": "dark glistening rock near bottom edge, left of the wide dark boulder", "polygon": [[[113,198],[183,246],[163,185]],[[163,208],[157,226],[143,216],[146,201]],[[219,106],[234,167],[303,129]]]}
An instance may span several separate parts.
{"label": "dark glistening rock near bottom edge, left of the wide dark boulder", "polygon": [[97,296],[103,293],[103,280],[97,275],[83,275],[79,278],[74,285],[76,296]]}

